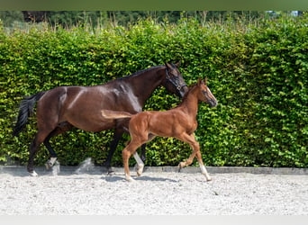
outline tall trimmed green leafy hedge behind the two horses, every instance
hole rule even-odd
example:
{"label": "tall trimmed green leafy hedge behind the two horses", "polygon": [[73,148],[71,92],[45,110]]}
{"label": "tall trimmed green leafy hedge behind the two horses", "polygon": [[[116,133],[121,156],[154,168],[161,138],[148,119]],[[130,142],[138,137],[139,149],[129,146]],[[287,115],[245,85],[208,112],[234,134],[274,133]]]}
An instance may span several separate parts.
{"label": "tall trimmed green leafy hedge behind the two horses", "polygon": [[[29,31],[0,28],[0,163],[24,165],[35,134],[35,118],[12,137],[17,107],[24,95],[59,85],[98,85],[140,69],[180,60],[187,84],[207,76],[219,101],[201,103],[199,127],[208,166],[308,166],[308,17],[282,16],[253,22],[177,24],[140,21],[129,28],[89,31],[34,26]],[[179,103],[159,88],[145,110]],[[52,139],[62,165],[92,157],[100,165],[112,130],[74,130]],[[113,157],[122,166],[121,150]],[[147,166],[176,166],[191,149],[176,139],[149,142]],[[41,147],[36,165],[48,158]],[[131,165],[133,164],[131,160]],[[196,160],[195,160],[196,164]]]}

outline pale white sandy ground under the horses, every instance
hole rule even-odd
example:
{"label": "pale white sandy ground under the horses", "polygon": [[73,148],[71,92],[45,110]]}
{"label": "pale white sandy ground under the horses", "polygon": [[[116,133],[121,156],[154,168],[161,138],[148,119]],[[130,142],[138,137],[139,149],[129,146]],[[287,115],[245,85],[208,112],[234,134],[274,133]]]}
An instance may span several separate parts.
{"label": "pale white sandy ground under the horses", "polygon": [[76,172],[0,171],[0,215],[308,215],[308,175]]}

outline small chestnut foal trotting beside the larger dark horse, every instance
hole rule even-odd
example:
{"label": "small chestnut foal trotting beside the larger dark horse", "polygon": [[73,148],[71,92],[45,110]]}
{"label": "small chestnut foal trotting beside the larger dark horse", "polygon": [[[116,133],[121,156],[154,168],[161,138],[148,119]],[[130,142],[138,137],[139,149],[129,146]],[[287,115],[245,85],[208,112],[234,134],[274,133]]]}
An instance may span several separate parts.
{"label": "small chestnut foal trotting beside the larger dark horse", "polygon": [[179,168],[189,166],[193,163],[194,157],[196,157],[201,172],[204,174],[206,180],[212,180],[204,166],[199,143],[195,140],[194,134],[197,128],[196,115],[199,101],[209,103],[212,107],[217,106],[217,100],[207,87],[206,79],[204,81],[199,79],[184,96],[182,103],[176,108],[165,112],[147,111],[131,114],[129,112],[102,110],[104,118],[110,119],[111,121],[120,118],[131,118],[129,122],[131,141],[122,150],[124,171],[127,181],[133,181],[128,164],[129,158],[131,155],[135,157],[138,164],[137,175],[141,175],[144,164],[138,156],[136,149],[139,148],[140,145],[154,139],[156,136],[172,137],[188,143],[190,147],[193,148],[193,152],[186,161],[178,165]]}

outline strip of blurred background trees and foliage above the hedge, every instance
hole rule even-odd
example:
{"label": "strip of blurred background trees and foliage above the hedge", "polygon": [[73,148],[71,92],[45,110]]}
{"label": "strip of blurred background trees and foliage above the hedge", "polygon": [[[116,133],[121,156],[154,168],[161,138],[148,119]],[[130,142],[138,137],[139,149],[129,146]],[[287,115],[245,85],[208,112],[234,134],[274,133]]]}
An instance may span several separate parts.
{"label": "strip of blurred background trees and foliage above the hedge", "polygon": [[269,13],[258,11],[0,11],[0,20],[5,27],[23,26],[23,22],[40,23],[44,21],[52,26],[60,25],[68,28],[84,24],[99,27],[110,23],[127,26],[147,18],[159,23],[166,19],[170,23],[177,23],[183,16],[195,17],[200,23],[225,21],[242,16],[251,20],[265,14]]}

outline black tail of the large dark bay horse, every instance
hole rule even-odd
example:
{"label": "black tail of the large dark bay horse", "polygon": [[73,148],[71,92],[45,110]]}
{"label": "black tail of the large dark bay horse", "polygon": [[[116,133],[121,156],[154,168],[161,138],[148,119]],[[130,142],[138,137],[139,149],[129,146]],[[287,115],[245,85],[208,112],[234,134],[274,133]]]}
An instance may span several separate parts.
{"label": "black tail of the large dark bay horse", "polygon": [[17,122],[13,130],[14,136],[17,136],[23,130],[28,121],[28,117],[33,113],[34,104],[39,101],[43,94],[45,94],[45,92],[39,92],[23,98],[19,105]]}

